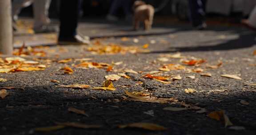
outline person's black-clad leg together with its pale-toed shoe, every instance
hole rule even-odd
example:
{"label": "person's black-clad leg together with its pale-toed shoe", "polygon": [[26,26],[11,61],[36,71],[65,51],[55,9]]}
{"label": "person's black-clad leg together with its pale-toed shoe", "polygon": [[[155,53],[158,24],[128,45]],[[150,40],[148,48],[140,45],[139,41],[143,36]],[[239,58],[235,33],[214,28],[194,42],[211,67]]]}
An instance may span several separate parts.
{"label": "person's black-clad leg together with its pale-toed shoe", "polygon": [[88,37],[79,36],[76,32],[81,0],[60,1],[60,33],[58,44],[89,44]]}

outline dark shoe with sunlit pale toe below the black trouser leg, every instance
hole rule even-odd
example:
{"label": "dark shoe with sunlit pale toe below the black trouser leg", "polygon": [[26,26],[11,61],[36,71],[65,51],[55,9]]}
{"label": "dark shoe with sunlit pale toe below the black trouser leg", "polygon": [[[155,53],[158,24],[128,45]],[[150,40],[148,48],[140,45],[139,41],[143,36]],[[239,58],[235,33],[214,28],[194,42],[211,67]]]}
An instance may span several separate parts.
{"label": "dark shoe with sunlit pale toe below the black trouser leg", "polygon": [[58,44],[59,45],[88,45],[90,44],[90,38],[88,36],[80,36],[80,35],[76,35],[68,38],[59,37]]}

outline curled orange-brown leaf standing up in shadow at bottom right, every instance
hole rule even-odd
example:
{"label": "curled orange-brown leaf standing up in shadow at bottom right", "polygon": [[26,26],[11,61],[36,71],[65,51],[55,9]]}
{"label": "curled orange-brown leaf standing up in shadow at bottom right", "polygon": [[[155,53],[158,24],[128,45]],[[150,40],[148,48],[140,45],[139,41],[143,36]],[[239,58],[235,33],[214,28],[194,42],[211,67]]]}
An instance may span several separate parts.
{"label": "curled orange-brown leaf standing up in shadow at bottom right", "polygon": [[212,111],[211,113],[208,114],[208,117],[218,120],[218,121],[222,121],[225,123],[225,127],[227,126],[232,126],[233,124],[231,123],[231,121],[228,119],[228,116],[225,114],[225,112],[223,110],[221,111]]}

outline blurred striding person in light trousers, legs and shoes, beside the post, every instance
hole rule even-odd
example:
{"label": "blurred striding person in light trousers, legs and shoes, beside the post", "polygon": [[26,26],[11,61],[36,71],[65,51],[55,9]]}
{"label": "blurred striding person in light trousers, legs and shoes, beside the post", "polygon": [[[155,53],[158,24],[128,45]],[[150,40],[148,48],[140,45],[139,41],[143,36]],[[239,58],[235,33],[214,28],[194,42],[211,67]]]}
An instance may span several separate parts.
{"label": "blurred striding person in light trousers, legs and shoes, beside the post", "polygon": [[[33,13],[34,13],[34,27],[35,33],[44,32],[56,32],[55,27],[50,26],[50,19],[48,17],[48,9],[51,0],[13,0],[12,1],[12,17],[14,22],[18,20],[18,15],[22,8],[28,7],[33,3]],[[16,29],[14,23],[14,29]]]}

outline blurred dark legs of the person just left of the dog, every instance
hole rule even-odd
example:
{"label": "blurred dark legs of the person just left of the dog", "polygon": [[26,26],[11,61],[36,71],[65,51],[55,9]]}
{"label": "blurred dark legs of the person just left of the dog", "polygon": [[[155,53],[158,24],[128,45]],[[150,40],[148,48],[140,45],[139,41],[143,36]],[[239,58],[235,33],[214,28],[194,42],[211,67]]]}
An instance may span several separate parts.
{"label": "blurred dark legs of the person just left of the dog", "polygon": [[119,8],[124,10],[125,20],[132,20],[132,11],[131,11],[132,0],[113,0],[111,8],[106,16],[106,19],[109,21],[117,21],[117,12]]}

